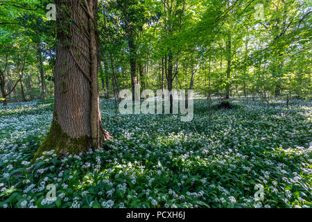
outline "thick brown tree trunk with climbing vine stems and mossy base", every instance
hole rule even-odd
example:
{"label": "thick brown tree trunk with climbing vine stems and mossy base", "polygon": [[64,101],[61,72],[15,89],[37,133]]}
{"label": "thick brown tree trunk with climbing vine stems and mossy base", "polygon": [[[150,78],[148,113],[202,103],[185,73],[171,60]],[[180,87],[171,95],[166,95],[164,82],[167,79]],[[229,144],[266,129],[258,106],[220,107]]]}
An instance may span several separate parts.
{"label": "thick brown tree trunk with climbing vine stems and mossy base", "polygon": [[53,121],[35,157],[47,150],[64,155],[85,153],[110,138],[101,126],[99,109],[97,2],[56,1],[59,44]]}

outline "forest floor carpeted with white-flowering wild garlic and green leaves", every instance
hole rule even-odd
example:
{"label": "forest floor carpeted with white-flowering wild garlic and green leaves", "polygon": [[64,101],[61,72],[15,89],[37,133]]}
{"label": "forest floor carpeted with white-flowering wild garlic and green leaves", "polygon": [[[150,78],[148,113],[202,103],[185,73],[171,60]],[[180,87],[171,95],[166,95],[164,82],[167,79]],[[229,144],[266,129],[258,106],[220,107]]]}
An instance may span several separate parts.
{"label": "forest floor carpeted with white-flowering wild garlic and green leaves", "polygon": [[[216,103],[209,124],[203,99],[191,122],[115,119],[114,101],[102,100],[108,148],[32,165],[53,101],[0,105],[0,207],[311,207],[312,101]],[[49,184],[56,200],[46,198]]]}

